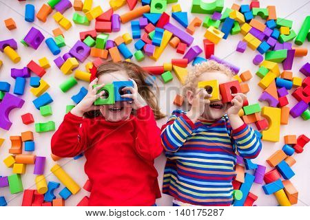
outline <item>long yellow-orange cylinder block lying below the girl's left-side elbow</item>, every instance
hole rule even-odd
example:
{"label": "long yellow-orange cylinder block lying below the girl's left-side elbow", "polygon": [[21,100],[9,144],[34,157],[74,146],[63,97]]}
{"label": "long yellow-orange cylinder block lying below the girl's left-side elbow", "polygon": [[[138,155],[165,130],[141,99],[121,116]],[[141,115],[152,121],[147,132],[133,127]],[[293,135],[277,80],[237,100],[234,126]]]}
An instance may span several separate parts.
{"label": "long yellow-orange cylinder block lying below the girl's left-side elbow", "polygon": [[73,195],[81,190],[81,187],[58,164],[54,165],[50,170]]}

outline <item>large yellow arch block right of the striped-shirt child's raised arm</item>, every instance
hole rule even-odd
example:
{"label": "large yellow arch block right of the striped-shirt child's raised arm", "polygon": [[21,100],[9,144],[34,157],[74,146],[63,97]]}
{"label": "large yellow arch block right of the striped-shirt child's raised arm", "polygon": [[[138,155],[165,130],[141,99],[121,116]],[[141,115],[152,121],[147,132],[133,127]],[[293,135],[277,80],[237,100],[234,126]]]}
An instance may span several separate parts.
{"label": "large yellow arch block right of the striped-shirt child's raised arm", "polygon": [[262,131],[262,140],[278,142],[280,140],[281,109],[262,107],[261,115],[268,120],[269,128]]}

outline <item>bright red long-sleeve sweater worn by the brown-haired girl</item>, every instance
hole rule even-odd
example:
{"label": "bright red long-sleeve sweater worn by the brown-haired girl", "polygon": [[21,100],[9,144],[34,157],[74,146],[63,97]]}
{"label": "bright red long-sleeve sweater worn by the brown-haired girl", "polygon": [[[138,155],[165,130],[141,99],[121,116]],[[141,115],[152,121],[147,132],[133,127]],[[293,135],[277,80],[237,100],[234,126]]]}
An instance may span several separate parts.
{"label": "bright red long-sleeve sweater worn by the brown-haired girl", "polygon": [[121,122],[68,113],[51,147],[59,157],[84,152],[85,173],[92,183],[89,206],[152,206],[161,197],[154,167],[163,151],[161,131],[148,106]]}

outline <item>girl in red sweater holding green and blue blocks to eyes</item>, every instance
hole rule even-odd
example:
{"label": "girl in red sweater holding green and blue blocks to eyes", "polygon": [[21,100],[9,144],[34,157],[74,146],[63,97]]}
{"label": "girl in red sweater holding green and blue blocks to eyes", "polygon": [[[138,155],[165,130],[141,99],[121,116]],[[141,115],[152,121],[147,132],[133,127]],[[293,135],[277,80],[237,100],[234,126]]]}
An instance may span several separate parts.
{"label": "girl in red sweater holding green and blue blocks to eyes", "polygon": [[[94,106],[105,84],[132,80],[122,95],[132,102]],[[87,95],[68,114],[52,137],[52,153],[84,153],[85,173],[92,183],[89,206],[152,206],[161,197],[154,159],[163,151],[156,119],[163,118],[147,73],[129,62],[101,65]],[[93,89],[93,85],[99,87]],[[83,117],[84,116],[84,117]],[[78,171],[78,170],[77,170]]]}

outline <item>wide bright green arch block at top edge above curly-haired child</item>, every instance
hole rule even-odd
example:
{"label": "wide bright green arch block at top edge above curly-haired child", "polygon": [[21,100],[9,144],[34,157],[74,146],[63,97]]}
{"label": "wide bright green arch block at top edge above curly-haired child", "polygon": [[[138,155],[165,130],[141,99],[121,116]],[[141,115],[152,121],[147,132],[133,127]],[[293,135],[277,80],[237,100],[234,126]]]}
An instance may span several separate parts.
{"label": "wide bright green arch block at top edge above curly-haired child", "polygon": [[193,0],[192,13],[213,14],[214,12],[222,12],[224,8],[224,0],[216,0],[207,3],[203,0]]}

